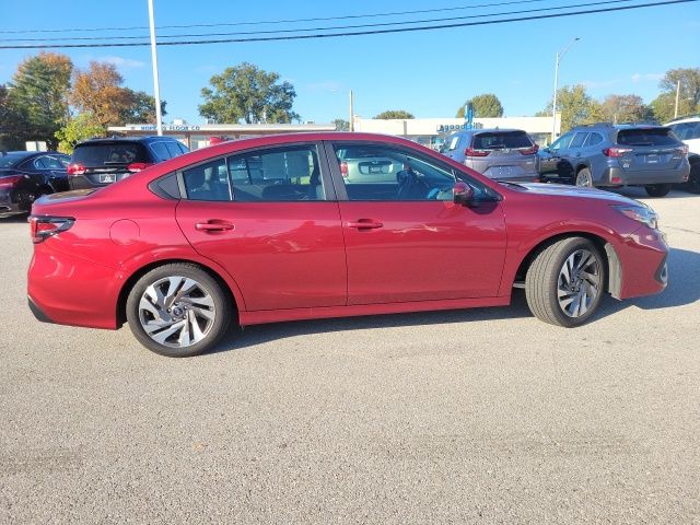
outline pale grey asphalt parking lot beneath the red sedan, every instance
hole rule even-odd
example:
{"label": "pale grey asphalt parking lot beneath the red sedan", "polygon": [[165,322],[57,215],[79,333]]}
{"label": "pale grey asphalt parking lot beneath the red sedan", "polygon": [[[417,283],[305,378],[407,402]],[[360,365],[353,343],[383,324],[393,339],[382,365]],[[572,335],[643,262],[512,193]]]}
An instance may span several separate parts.
{"label": "pale grey asphalt parking lot beneath the red sedan", "polygon": [[584,327],[518,291],[187,360],[35,322],[0,220],[0,523],[700,523],[700,196],[642,200],[669,287]]}

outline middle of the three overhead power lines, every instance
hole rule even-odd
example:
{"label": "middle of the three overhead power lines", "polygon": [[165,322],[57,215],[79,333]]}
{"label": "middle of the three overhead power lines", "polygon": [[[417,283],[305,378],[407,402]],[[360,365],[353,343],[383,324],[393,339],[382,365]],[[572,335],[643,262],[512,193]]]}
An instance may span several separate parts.
{"label": "middle of the three overhead power lines", "polygon": [[[269,35],[269,34],[288,34],[288,33],[302,33],[308,31],[336,31],[336,30],[355,30],[363,27],[385,27],[385,26],[396,26],[396,25],[407,25],[407,24],[428,24],[435,22],[446,22],[454,20],[472,20],[472,19],[485,19],[489,16],[505,16],[511,14],[523,14],[523,13],[536,13],[542,11],[555,11],[561,9],[574,9],[574,8],[588,8],[592,5],[607,5],[610,3],[626,3],[631,2],[632,0],[604,0],[599,2],[587,2],[587,3],[575,3],[570,5],[557,5],[551,8],[540,8],[540,9],[530,9],[530,10],[521,10],[521,11],[506,11],[501,13],[490,13],[490,14],[470,14],[467,16],[451,16],[443,19],[428,19],[428,20],[412,20],[405,22],[382,22],[374,24],[359,24],[359,25],[336,25],[329,27],[303,27],[296,30],[269,30],[269,31],[254,31],[254,32],[237,32],[237,33],[206,33],[206,34],[184,34],[184,35],[159,35],[159,40],[161,38],[186,38],[186,37],[212,37],[212,36],[243,36],[243,35]],[[148,35],[140,36],[73,36],[73,37],[61,37],[61,38],[0,38],[0,42],[65,42],[65,40],[138,40],[149,38]]]}

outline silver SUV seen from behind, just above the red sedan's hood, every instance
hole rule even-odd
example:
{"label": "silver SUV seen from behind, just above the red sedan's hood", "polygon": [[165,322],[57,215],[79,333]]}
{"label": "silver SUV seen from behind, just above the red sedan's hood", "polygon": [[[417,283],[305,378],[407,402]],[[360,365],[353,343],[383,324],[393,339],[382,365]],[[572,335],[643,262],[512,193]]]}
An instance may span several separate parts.
{"label": "silver SUV seen from behind, just above the red sedan's hood", "polygon": [[497,180],[538,182],[538,145],[521,129],[465,129],[448,136],[441,152]]}

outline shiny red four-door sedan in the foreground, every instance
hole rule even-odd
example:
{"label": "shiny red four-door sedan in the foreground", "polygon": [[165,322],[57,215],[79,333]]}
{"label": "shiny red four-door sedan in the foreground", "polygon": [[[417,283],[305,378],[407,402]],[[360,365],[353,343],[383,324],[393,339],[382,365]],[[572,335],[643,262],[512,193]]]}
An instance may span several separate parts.
{"label": "shiny red four-door sedan in the foreground", "polygon": [[666,285],[645,205],[499,184],[407,140],[303,133],[221,143],[102,189],[38,200],[36,317],[186,357],[241,325],[506,305],[572,327],[607,292]]}

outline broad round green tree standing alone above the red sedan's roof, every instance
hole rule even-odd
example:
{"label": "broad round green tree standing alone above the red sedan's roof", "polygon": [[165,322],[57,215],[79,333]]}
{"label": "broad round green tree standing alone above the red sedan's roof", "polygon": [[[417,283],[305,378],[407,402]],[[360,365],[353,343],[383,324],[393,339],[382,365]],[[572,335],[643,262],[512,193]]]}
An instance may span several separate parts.
{"label": "broad round green tree standing alone above the red sedan's roof", "polygon": [[292,112],[296,92],[279,80],[278,73],[248,62],[226,68],[209,79],[211,89],[202,88],[199,114],[219,122],[291,122],[299,118]]}

